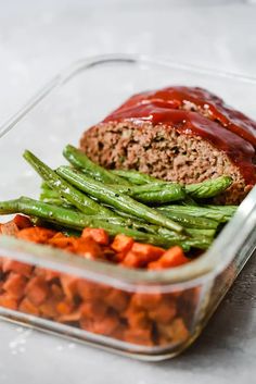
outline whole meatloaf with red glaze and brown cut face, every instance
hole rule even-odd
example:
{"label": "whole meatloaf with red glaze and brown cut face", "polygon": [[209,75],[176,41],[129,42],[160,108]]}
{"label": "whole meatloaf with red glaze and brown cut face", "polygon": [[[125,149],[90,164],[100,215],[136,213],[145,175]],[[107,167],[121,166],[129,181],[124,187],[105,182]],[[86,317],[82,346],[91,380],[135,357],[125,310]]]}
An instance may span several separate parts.
{"label": "whole meatloaf with red glaze and brown cut face", "polygon": [[202,88],[132,96],[86,131],[80,148],[108,169],[136,169],[185,184],[233,178],[221,202],[238,203],[256,182],[256,123]]}

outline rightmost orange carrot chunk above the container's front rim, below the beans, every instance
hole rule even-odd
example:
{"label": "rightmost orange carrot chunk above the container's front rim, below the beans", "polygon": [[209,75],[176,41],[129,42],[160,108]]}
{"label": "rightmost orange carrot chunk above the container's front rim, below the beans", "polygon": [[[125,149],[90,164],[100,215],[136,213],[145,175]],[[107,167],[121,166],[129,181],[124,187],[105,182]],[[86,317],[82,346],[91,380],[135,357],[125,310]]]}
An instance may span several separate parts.
{"label": "rightmost orange carrot chunk above the container's front rim, below the beans", "polygon": [[175,246],[165,251],[156,262],[151,262],[148,268],[150,270],[174,268],[185,264],[189,261],[190,259],[184,256],[182,248]]}

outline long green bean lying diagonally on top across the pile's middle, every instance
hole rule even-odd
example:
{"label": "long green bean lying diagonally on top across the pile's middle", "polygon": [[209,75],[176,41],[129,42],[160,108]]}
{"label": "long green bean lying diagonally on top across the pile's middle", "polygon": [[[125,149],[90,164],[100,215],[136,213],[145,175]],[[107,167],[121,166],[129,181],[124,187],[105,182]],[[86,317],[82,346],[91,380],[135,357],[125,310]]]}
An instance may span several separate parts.
{"label": "long green bean lying diagonally on top across the pile's middle", "polygon": [[143,219],[149,223],[165,226],[178,233],[183,232],[183,227],[181,225],[164,216],[156,210],[133,200],[129,196],[117,194],[114,188],[87,177],[76,170],[71,170],[68,166],[61,166],[56,170],[56,172],[77,188],[89,194],[90,196],[93,196],[100,201],[110,205],[111,207]]}

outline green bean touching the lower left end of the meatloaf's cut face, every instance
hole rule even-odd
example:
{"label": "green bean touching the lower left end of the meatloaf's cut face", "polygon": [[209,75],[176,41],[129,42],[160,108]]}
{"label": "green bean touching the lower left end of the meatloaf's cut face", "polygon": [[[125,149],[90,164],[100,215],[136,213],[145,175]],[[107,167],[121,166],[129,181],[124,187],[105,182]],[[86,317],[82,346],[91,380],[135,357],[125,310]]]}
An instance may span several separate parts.
{"label": "green bean touching the lower left end of the meatloaf's cut face", "polygon": [[63,154],[71,164],[99,182],[106,184],[129,184],[124,178],[94,163],[84,152],[71,145],[65,147]]}

